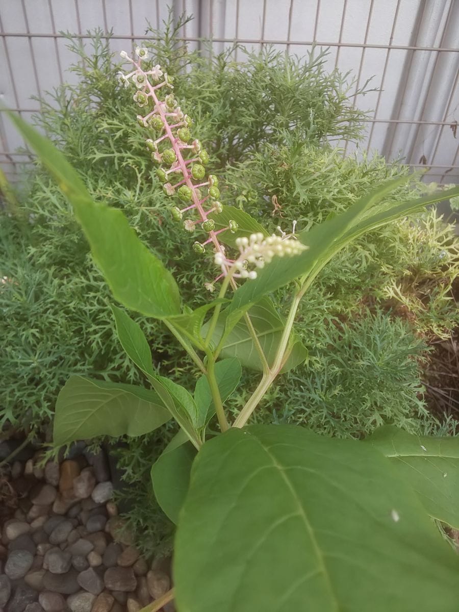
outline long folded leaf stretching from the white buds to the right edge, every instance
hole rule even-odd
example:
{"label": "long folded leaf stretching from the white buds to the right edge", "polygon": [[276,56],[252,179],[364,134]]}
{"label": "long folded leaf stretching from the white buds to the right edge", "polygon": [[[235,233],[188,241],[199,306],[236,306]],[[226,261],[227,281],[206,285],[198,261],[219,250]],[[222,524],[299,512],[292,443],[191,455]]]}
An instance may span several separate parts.
{"label": "long folded leaf stretching from the white buds to the right edge", "polygon": [[274,258],[272,262],[258,271],[256,280],[246,282],[237,289],[231,304],[231,310],[237,310],[245,304],[258,301],[261,296],[286,285],[295,278],[315,277],[330,259],[356,237],[389,223],[412,212],[422,210],[427,204],[443,200],[459,193],[459,188],[447,192],[411,200],[405,203],[395,203],[392,206],[376,208],[376,212],[368,211],[409,177],[401,177],[395,181],[381,185],[364,198],[354,203],[346,212],[332,215],[314,226],[309,231],[303,231],[298,236],[308,249],[293,257]]}

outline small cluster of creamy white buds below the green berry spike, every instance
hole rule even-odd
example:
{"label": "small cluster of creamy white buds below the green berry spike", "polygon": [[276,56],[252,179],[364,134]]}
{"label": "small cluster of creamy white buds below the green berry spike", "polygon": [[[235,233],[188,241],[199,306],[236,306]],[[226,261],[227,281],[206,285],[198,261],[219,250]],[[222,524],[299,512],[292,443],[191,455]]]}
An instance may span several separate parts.
{"label": "small cluster of creamy white buds below the green berry spike", "polygon": [[236,238],[236,246],[239,248],[239,257],[236,261],[230,261],[222,253],[215,253],[214,261],[217,266],[222,267],[223,274],[234,267],[235,278],[256,278],[255,270],[248,270],[250,264],[263,268],[269,264],[273,257],[299,255],[308,247],[294,237],[282,237],[272,234],[265,237],[262,233],[251,234]]}

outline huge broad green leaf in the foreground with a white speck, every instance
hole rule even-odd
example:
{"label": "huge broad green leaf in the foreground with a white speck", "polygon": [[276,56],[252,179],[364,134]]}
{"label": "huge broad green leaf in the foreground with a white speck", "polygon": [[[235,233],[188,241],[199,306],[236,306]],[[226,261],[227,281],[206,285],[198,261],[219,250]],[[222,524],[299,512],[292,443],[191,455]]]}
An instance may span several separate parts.
{"label": "huge broad green leaf in the foreground with a white speck", "polygon": [[459,559],[370,444],[233,428],[193,463],[179,612],[456,612]]}

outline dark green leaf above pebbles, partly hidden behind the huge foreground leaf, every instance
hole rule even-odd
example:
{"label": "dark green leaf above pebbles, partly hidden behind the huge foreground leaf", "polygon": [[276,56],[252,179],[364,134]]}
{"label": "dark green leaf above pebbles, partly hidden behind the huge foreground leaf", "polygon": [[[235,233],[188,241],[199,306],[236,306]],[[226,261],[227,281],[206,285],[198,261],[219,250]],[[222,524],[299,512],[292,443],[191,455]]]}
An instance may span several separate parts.
{"label": "dark green leaf above pebbles, partly hidden behind the huge foreground leaf", "polygon": [[165,515],[177,524],[190,484],[190,471],[196,449],[187,441],[165,450],[151,468],[155,497]]}

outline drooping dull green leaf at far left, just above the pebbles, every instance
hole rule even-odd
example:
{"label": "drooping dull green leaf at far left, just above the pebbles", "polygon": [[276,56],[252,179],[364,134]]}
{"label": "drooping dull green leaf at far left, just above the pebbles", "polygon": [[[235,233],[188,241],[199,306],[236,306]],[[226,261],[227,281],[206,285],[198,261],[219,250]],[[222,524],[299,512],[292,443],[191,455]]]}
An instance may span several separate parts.
{"label": "drooping dull green leaf at far left, just above the pebbles", "polygon": [[56,401],[54,444],[97,436],[141,436],[170,418],[154,391],[70,376]]}

